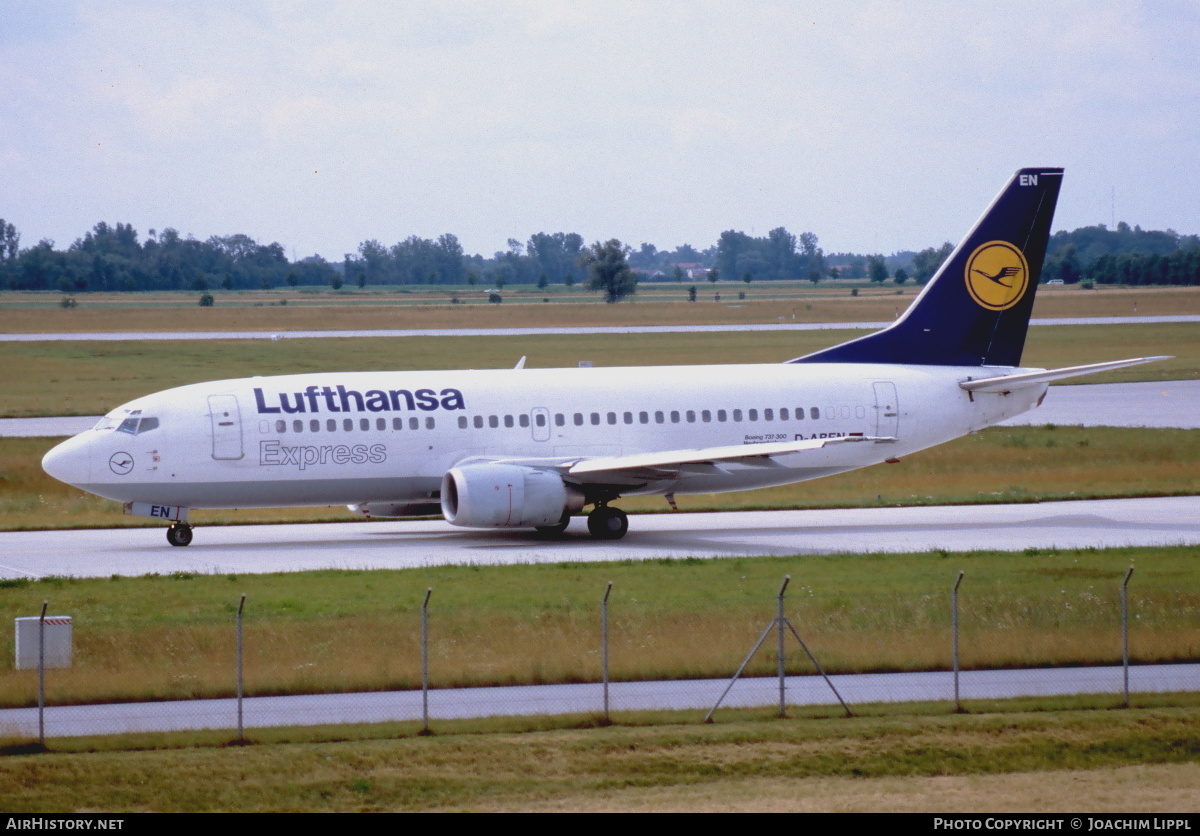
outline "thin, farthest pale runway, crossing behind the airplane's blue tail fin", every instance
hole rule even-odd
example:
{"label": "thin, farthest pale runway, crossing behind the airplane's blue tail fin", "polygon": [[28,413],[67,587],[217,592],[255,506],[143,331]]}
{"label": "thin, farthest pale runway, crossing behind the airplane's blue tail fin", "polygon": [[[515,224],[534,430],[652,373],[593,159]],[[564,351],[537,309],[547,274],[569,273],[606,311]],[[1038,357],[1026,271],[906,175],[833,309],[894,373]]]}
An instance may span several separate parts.
{"label": "thin, farthest pale runway, crossing behind the airplane's blue tail fin", "polygon": [[[1200,315],[1175,317],[1048,317],[1030,325],[1156,325],[1200,323]],[[329,337],[526,337],[578,333],[715,333],[722,331],[877,331],[881,323],[772,323],[736,325],[600,325],[570,327],[464,327],[364,331],[119,331],[92,333],[0,333],[0,342],[86,342],[138,339],[324,339]]]}

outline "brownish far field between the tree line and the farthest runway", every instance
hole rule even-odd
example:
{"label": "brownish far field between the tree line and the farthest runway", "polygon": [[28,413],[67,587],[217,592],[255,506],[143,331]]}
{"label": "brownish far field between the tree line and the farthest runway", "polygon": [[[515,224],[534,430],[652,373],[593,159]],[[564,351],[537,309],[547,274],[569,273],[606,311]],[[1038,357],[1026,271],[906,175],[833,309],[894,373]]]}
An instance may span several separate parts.
{"label": "brownish far field between the tree line and the farthest runway", "polygon": [[[688,302],[696,284],[698,300]],[[858,290],[857,296],[852,291]],[[379,289],[341,293],[216,291],[211,308],[198,293],[80,294],[64,309],[58,293],[0,293],[0,331],[288,331],[410,327],[530,327],[572,325],[720,325],[738,323],[886,321],[919,288],[865,282],[812,285],[708,282],[641,285],[637,296],[605,305],[598,294],[562,285],[504,288],[487,303],[481,289]],[[714,294],[721,301],[714,301]],[[739,293],[745,299],[739,300]],[[460,303],[450,303],[457,295]],[[542,300],[548,300],[544,302]],[[286,305],[281,305],[286,302]],[[1049,288],[1038,290],[1034,317],[1124,317],[1200,313],[1200,288]]]}

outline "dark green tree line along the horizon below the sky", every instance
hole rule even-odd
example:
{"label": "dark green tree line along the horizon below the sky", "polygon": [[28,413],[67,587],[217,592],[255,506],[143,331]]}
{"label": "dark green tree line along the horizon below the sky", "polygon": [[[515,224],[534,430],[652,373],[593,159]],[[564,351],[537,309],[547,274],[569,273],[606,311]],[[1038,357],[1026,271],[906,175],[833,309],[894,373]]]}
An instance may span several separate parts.
{"label": "dark green tree line along the horizon below the sky", "polygon": [[[277,243],[259,243],[247,235],[211,236],[204,241],[175,229],[149,230],[139,240],[127,223],[97,223],[65,249],[41,240],[20,247],[12,223],[0,218],[0,288],[61,290],[217,290],[290,287],[593,285],[596,271],[619,276],[629,295],[641,281],[810,281],[865,278],[881,283],[929,281],[953,247],[928,247],[892,255],[826,254],[814,233],[793,235],[784,227],[756,237],[738,230],[721,233],[715,245],[697,249],[689,243],[637,249],[620,241],[586,246],[576,233],[536,233],[527,241],[509,239],[490,258],[467,254],[452,234],[437,239],[409,236],[386,246],[364,241],[341,261],[319,255],[288,260]],[[1120,223],[1058,231],[1048,247],[1042,279],[1064,284],[1200,284],[1200,239],[1172,230],[1142,230]],[[619,255],[619,258],[618,258]],[[618,269],[628,267],[628,272]],[[606,297],[611,281],[600,281]]]}

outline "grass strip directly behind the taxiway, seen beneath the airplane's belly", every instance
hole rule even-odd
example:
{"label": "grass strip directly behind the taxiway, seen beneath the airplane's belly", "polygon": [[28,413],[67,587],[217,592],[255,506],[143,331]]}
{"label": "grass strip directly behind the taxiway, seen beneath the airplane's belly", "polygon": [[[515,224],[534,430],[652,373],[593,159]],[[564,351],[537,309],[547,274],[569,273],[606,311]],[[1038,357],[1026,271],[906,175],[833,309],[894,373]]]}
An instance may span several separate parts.
{"label": "grass strip directly behind the taxiway, seen beneath the airplane's belly", "polygon": [[[0,438],[0,530],[161,525],[50,479],[58,439]],[[1026,503],[1200,493],[1200,432],[1115,427],[992,427],[896,464],[761,491],[679,497],[683,511]],[[620,500],[665,511],[660,497]],[[361,519],[342,506],[193,511],[196,524]]]}

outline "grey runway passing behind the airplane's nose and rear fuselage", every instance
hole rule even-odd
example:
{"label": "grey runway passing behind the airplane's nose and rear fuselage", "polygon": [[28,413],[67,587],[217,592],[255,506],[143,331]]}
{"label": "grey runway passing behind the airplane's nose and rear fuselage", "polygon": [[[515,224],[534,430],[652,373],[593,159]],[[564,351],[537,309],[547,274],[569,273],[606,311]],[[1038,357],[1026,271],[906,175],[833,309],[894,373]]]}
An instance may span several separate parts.
{"label": "grey runway passing behind the airplane's nose and rear fuselage", "polygon": [[[76,435],[98,415],[0,419],[0,437]],[[1200,428],[1200,380],[1051,386],[1045,402],[1003,426]]]}

